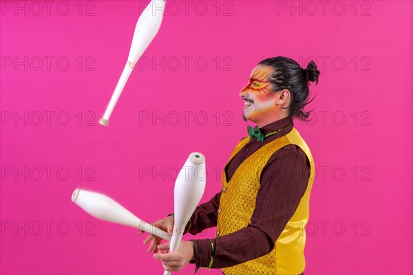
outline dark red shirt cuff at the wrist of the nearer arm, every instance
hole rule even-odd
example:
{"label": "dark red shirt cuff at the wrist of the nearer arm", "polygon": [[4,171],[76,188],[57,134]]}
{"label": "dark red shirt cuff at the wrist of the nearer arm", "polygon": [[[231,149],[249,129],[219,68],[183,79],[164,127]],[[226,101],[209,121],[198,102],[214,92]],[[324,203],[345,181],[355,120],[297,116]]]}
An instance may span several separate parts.
{"label": "dark red shirt cuff at the wrist of the nearer arm", "polygon": [[215,239],[191,240],[193,242],[193,253],[195,260],[189,263],[195,263],[195,273],[200,268],[210,269],[213,263],[213,256],[215,254]]}

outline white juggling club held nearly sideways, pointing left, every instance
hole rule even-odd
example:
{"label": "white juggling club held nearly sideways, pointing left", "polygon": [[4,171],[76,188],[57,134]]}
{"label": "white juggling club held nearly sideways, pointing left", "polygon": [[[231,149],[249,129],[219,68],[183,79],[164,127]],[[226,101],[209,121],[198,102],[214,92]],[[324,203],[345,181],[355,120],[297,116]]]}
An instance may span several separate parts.
{"label": "white juggling club held nearly sideways, pointing left", "polygon": [[145,221],[140,220],[119,203],[105,195],[76,189],[72,194],[72,201],[97,219],[139,228],[162,239],[171,240],[171,236],[167,232],[145,223]]}

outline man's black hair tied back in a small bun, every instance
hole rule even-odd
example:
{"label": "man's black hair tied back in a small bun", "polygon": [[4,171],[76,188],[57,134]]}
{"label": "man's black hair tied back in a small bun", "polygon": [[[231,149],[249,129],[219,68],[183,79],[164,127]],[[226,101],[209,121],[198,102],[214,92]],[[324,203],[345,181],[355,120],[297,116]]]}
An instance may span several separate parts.
{"label": "man's black hair tied back in a small bun", "polygon": [[293,59],[277,56],[267,58],[258,65],[273,67],[273,74],[268,76],[271,87],[274,91],[288,89],[291,94],[291,104],[289,107],[284,107],[284,109],[289,108],[290,115],[306,121],[313,110],[305,112],[303,109],[314,100],[313,98],[308,101],[308,85],[310,85],[310,81],[317,85],[320,74],[314,61],[310,61],[307,68],[303,69]]}

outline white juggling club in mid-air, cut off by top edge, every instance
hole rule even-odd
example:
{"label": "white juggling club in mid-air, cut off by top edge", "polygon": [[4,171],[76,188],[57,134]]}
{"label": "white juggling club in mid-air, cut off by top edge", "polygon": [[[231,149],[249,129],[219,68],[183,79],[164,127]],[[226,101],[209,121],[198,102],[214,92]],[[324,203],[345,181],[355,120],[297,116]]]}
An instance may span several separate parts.
{"label": "white juggling club in mid-air, cut off by top edge", "polygon": [[138,62],[138,59],[142,56],[143,52],[145,52],[148,45],[153,40],[153,37],[158,33],[164,10],[165,0],[152,0],[145,10],[143,10],[142,14],[140,14],[138,23],[136,23],[134,38],[132,39],[131,50],[129,50],[125,69],[123,69],[109,105],[107,105],[105,115],[103,115],[103,118],[99,121],[103,126],[109,124],[109,117],[112,114],[112,111],[114,111],[116,102],[118,101],[135,64]]}

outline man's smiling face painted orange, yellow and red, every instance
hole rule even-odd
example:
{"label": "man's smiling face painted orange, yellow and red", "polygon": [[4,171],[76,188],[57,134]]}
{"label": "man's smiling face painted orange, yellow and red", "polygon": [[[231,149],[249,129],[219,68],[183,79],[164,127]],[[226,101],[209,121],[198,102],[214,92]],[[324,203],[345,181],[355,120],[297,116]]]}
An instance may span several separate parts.
{"label": "man's smiling face painted orange, yellow and red", "polygon": [[244,120],[250,120],[258,124],[268,119],[268,115],[274,115],[281,106],[277,104],[279,92],[273,91],[268,81],[268,76],[274,69],[269,66],[257,65],[248,79],[248,84],[240,92],[244,100]]}

